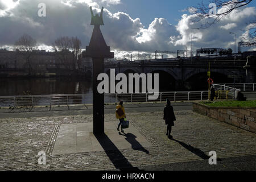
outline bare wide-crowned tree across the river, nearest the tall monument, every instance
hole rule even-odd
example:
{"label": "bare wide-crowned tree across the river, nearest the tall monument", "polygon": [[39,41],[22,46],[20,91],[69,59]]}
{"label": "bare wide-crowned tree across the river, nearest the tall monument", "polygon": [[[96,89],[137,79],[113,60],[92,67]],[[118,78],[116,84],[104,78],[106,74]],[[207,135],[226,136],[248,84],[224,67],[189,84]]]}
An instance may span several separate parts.
{"label": "bare wide-crowned tree across the river, nearest the tall monument", "polygon": [[65,68],[70,68],[70,55],[69,51],[72,52],[72,65],[73,69],[76,69],[78,55],[81,52],[81,41],[76,37],[69,38],[68,36],[62,36],[57,38],[53,44],[53,48],[60,52],[60,60]]}

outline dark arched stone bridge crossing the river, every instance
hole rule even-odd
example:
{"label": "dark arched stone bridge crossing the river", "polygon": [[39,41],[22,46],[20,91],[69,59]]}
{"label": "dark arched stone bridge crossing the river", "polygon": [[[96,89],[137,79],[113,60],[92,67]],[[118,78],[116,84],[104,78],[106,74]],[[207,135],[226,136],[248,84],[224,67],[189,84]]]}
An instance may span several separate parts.
{"label": "dark arched stone bridge crossing the river", "polygon": [[[253,54],[255,54],[253,52]],[[251,55],[251,53],[250,53]],[[236,60],[234,61],[234,56]],[[115,73],[159,73],[159,86],[162,90],[201,90],[208,88],[210,63],[210,77],[214,83],[232,83],[233,73],[236,82],[255,82],[255,56],[248,54],[212,55],[191,58],[157,59],[141,61],[107,61],[105,73],[110,75],[110,69]],[[247,63],[247,60],[249,63]],[[245,67],[245,65],[249,67]],[[86,68],[86,75],[92,74],[92,68]]]}

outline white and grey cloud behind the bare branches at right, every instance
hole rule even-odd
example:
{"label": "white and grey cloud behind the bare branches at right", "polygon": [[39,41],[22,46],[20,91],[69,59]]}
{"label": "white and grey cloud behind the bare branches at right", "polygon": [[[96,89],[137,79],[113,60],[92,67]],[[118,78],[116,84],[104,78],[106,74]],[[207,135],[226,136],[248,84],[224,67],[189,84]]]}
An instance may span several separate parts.
{"label": "white and grey cloud behind the bare branches at right", "polygon": [[[223,11],[223,9],[220,11]],[[245,7],[232,11],[232,13],[220,19],[219,22],[212,24],[209,28],[201,28],[201,25],[207,23],[209,19],[193,23],[192,19],[195,19],[195,15],[184,14],[177,24],[177,30],[181,38],[175,43],[176,45],[189,46],[191,44],[191,29],[201,28],[193,31],[194,50],[200,47],[230,48],[231,46],[233,49],[234,37],[229,32],[236,32],[237,42],[241,41],[242,35],[245,35],[245,30],[242,29],[246,28],[246,23],[255,20],[255,16],[255,7]]]}

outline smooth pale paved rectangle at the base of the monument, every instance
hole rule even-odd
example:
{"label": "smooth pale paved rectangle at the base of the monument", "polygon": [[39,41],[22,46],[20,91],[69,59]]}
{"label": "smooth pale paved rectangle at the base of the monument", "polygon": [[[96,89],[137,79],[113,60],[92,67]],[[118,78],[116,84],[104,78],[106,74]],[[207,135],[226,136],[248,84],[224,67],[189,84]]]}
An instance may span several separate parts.
{"label": "smooth pale paved rectangle at the base of the monument", "polygon": [[92,122],[60,125],[52,155],[152,146],[133,125],[124,133],[117,131],[117,125],[118,122],[105,122],[105,137],[100,138],[94,136]]}

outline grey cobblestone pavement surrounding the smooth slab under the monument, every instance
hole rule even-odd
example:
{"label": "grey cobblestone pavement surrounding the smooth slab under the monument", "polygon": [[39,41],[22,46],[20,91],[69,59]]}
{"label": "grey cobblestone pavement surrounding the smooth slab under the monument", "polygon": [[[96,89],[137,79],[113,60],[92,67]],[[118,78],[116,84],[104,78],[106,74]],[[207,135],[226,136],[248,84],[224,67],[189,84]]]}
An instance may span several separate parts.
{"label": "grey cobblestone pavement surrounding the smooth slab under the monument", "polygon": [[[256,154],[256,134],[221,123],[192,111],[175,111],[174,140],[166,136],[163,112],[129,113],[131,124],[151,142],[140,150],[83,152],[52,155],[63,123],[92,122],[92,115],[0,119],[0,170],[115,170],[117,168],[205,161],[209,151],[217,158]],[[117,121],[105,114],[105,122]],[[118,123],[118,122],[117,122]],[[38,152],[46,151],[46,166],[38,164]],[[128,165],[129,164],[129,165]],[[172,169],[172,168],[170,168]]]}

